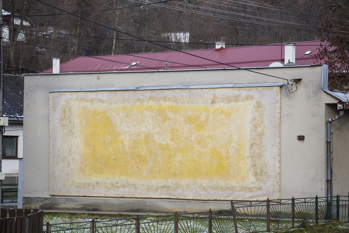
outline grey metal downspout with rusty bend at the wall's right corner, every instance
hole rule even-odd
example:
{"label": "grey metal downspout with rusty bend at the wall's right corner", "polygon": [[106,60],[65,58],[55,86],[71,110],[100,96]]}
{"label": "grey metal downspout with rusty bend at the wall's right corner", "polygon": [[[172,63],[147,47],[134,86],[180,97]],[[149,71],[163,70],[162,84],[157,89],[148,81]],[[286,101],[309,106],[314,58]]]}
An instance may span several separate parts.
{"label": "grey metal downspout with rusty bend at the wall's right corner", "polygon": [[[327,199],[332,197],[332,173],[331,173],[331,122],[344,116],[344,110],[340,110],[339,114],[327,120],[326,130],[326,154],[327,154]],[[327,200],[328,201],[328,200]]]}

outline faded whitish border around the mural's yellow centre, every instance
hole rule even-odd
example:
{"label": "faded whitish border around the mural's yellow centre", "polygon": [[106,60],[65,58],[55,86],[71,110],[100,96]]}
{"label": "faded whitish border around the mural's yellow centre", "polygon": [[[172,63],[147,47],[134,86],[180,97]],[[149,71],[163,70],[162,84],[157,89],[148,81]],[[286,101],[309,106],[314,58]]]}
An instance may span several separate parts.
{"label": "faded whitish border around the mural's yellow centre", "polygon": [[[190,95],[195,94],[197,98],[191,98]],[[222,94],[224,93],[224,94]],[[238,94],[239,93],[239,94]],[[206,105],[207,107],[210,106],[209,102],[212,102],[212,99],[210,99],[214,95],[252,95],[255,100],[261,101],[265,106],[266,115],[263,121],[265,121],[266,128],[268,129],[268,132],[266,137],[263,139],[265,142],[265,147],[263,148],[264,153],[267,154],[267,162],[268,166],[264,167],[263,169],[268,169],[268,181],[264,184],[261,184],[261,190],[260,191],[254,191],[254,192],[245,192],[245,191],[234,191],[234,190],[227,190],[223,192],[219,192],[219,190],[208,190],[208,191],[195,191],[190,190],[190,192],[186,192],[185,190],[170,190],[168,192],[159,191],[154,192],[148,191],[147,192],[147,185],[159,185],[162,183],[157,183],[156,181],[151,181],[147,183],[147,181],[140,181],[135,182],[133,185],[134,187],[142,187],[141,190],[137,190],[137,188],[133,189],[113,189],[113,183],[115,182],[129,182],[125,179],[109,179],[105,180],[104,178],[90,178],[88,180],[84,180],[83,177],[76,176],[77,173],[74,172],[74,162],[78,162],[81,158],[74,158],[73,154],[78,153],[72,153],[72,156],[70,157],[69,161],[63,161],[63,160],[57,160],[61,156],[59,154],[58,148],[61,148],[62,145],[60,143],[64,142],[64,135],[60,134],[60,136],[57,134],[58,131],[64,132],[67,129],[64,129],[62,131],[62,128],[60,128],[62,125],[59,126],[59,121],[61,117],[61,112],[59,112],[62,104],[69,100],[75,101],[80,98],[80,100],[83,99],[94,99],[98,100],[101,104],[103,104],[103,101],[108,102],[109,104],[113,101],[110,101],[111,99],[122,99],[125,100],[130,98],[133,99],[133,103],[136,103],[140,98],[147,98],[149,99],[149,95],[154,96],[166,96],[168,98],[171,98],[173,96],[182,96],[179,98],[180,104],[202,104]],[[125,97],[126,96],[126,97]],[[224,98],[223,98],[224,99]],[[129,99],[128,99],[129,100]],[[73,102],[74,102],[73,101]],[[97,101],[97,102],[98,102]],[[201,102],[200,102],[201,101]],[[81,105],[86,105],[86,103],[81,102]],[[115,101],[114,101],[115,102]],[[132,102],[132,101],[131,101]],[[171,101],[170,101],[171,102]],[[252,102],[247,101],[247,104],[251,104]],[[255,103],[255,102],[253,102]],[[122,105],[122,101],[116,101],[116,105]],[[129,103],[128,103],[129,104]],[[216,103],[216,105],[224,105],[225,103]],[[217,106],[218,106],[217,105]],[[88,105],[86,105],[88,106]],[[74,110],[72,110],[74,113]],[[73,116],[70,116],[73,117]],[[74,118],[74,117],[73,117]],[[78,124],[76,120],[70,119],[73,124]],[[74,123],[75,122],[75,123]],[[76,126],[75,125],[75,126]],[[68,127],[68,126],[67,126]],[[132,91],[101,91],[101,92],[57,92],[57,93],[50,93],[50,194],[51,195],[62,195],[62,196],[95,196],[95,197],[139,197],[139,198],[179,198],[179,199],[202,199],[202,200],[264,200],[266,198],[271,199],[279,199],[280,198],[280,87],[250,87],[250,88],[217,88],[217,89],[194,89],[194,90],[188,90],[188,89],[178,89],[178,90],[144,90],[144,91],[138,91],[138,92],[132,92]],[[79,133],[79,130],[76,130],[74,132],[73,137],[76,138],[76,134]],[[73,144],[64,144],[64,146],[69,147],[67,151],[79,151],[79,148],[77,146],[74,146]],[[62,151],[61,151],[62,152]],[[57,164],[60,164],[57,166]],[[258,166],[258,164],[254,164],[254,166]],[[62,167],[65,167],[65,171],[61,170]],[[250,169],[253,169],[252,167]],[[73,177],[77,178],[74,179]],[[104,183],[103,183],[104,182]],[[182,182],[182,183],[180,183]],[[193,182],[200,182],[200,180],[195,179],[188,179],[186,181],[179,181],[179,185],[184,185],[184,183],[187,183],[187,186],[183,187],[190,187],[188,186],[189,183]],[[87,187],[89,183],[98,184],[97,189]],[[103,184],[102,184],[103,183]],[[171,187],[171,184],[177,184],[178,181],[171,181],[170,179],[166,181]],[[220,181],[217,181],[216,183],[220,183]],[[210,181],[202,181],[203,187],[211,187],[213,184]],[[142,186],[143,185],[143,186]],[[222,184],[223,186],[225,184]],[[246,189],[248,189],[248,184],[246,183]],[[79,187],[78,189],[75,189],[74,187]],[[81,187],[86,187],[82,188]],[[96,186],[94,186],[96,187]],[[103,187],[111,187],[110,189],[103,189]],[[218,192],[217,192],[218,191]]]}

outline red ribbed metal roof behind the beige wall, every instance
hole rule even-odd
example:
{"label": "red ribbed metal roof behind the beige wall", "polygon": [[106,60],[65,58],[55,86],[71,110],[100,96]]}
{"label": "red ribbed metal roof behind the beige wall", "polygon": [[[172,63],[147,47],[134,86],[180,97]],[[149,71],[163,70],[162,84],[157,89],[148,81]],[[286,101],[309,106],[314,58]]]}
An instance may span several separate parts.
{"label": "red ribbed metal roof behind the beige wall", "polygon": [[[317,49],[319,47],[320,41],[297,42],[296,64],[315,64],[316,58],[313,58],[312,56],[318,53]],[[312,52],[308,56],[304,56],[304,53],[307,51]],[[168,70],[231,68],[230,66],[217,64],[213,61],[199,57],[237,67],[267,67],[275,61],[280,62],[281,57],[284,57],[284,46],[281,46],[279,43],[272,45],[232,47],[219,51],[216,51],[215,49],[201,49],[186,50],[185,52],[198,57],[177,51],[77,57],[62,63],[60,65],[60,73],[165,70],[166,61],[168,61]],[[132,63],[137,64],[135,66],[130,66]],[[41,73],[52,73],[52,68]]]}

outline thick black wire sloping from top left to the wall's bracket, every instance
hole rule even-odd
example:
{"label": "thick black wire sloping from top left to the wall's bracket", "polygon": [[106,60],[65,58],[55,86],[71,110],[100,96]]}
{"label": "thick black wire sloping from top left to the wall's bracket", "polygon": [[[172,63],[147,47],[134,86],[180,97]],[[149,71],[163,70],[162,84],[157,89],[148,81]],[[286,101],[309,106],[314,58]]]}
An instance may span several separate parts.
{"label": "thick black wire sloping from top left to the wall's bracket", "polygon": [[[53,7],[53,8],[55,8],[55,9],[61,10],[62,12],[69,13],[69,12],[67,12],[67,11],[65,11],[65,10],[59,9],[58,7],[52,6],[52,5],[48,4],[48,3],[45,3],[45,2],[42,2],[42,1],[39,1],[39,0],[36,0],[36,1],[41,2],[41,3],[43,3],[43,4],[47,5],[47,6]],[[232,65],[225,64],[225,63],[221,63],[221,62],[219,62],[219,61],[211,60],[211,59],[208,59],[208,58],[196,56],[196,55],[194,55],[194,54],[187,53],[187,52],[184,52],[184,51],[180,51],[180,50],[177,50],[177,49],[173,49],[173,48],[170,48],[170,47],[165,46],[165,45],[157,44],[157,43],[155,43],[155,42],[150,42],[150,41],[148,41],[148,40],[146,40],[146,39],[142,39],[142,38],[140,38],[140,37],[138,37],[138,36],[134,36],[134,35],[128,34],[128,33],[126,33],[126,32],[122,32],[122,31],[119,31],[119,30],[117,30],[117,29],[113,29],[113,28],[108,27],[108,26],[105,26],[105,25],[103,25],[103,24],[101,24],[101,23],[97,23],[97,22],[94,22],[94,21],[92,21],[92,20],[85,19],[85,18],[83,18],[83,17],[81,17],[81,16],[78,16],[78,15],[75,15],[75,14],[72,14],[72,13],[69,13],[69,14],[71,14],[71,15],[73,15],[73,16],[75,16],[75,17],[79,17],[79,18],[81,18],[81,19],[83,19],[83,20],[85,20],[85,21],[89,21],[89,22],[91,22],[91,23],[97,24],[97,25],[99,25],[99,26],[102,26],[102,27],[105,27],[105,28],[108,28],[108,29],[111,29],[111,30],[120,32],[120,33],[122,33],[122,34],[131,36],[131,37],[134,37],[134,38],[137,38],[137,39],[141,39],[142,41],[146,41],[146,42],[149,42],[149,43],[152,43],[152,44],[155,44],[155,45],[163,46],[164,48],[171,49],[171,50],[174,50],[174,51],[177,51],[177,52],[181,52],[181,53],[184,53],[184,54],[188,54],[188,55],[193,56],[193,57],[198,57],[198,58],[205,59],[205,60],[208,60],[208,61],[212,61],[212,62],[214,62],[214,63],[218,63],[218,64],[221,64],[221,65],[226,65],[226,66],[238,68],[238,69],[240,69],[240,70],[246,70],[246,71],[249,71],[249,72],[252,72],[252,73],[257,73],[257,74],[266,75],[266,76],[273,77],[273,78],[283,79],[283,80],[286,80],[286,81],[287,81],[287,84],[288,84],[289,81],[290,81],[290,80],[288,80],[288,79],[280,78],[280,77],[277,77],[277,76],[274,76],[274,75],[265,74],[265,73],[260,73],[260,72],[257,72],[257,71],[252,71],[252,70],[248,70],[248,69],[245,69],[245,68],[240,68],[240,67],[237,67],[237,66],[232,66]]]}

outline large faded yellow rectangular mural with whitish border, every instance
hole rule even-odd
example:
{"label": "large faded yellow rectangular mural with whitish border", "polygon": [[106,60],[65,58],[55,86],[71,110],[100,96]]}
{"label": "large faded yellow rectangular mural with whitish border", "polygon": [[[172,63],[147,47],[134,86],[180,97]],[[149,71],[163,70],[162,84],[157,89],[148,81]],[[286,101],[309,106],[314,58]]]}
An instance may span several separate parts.
{"label": "large faded yellow rectangular mural with whitish border", "polygon": [[50,93],[50,194],[280,197],[280,87]]}

